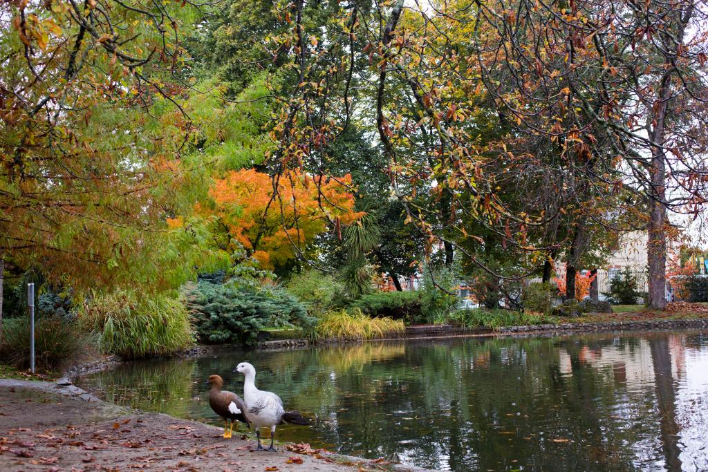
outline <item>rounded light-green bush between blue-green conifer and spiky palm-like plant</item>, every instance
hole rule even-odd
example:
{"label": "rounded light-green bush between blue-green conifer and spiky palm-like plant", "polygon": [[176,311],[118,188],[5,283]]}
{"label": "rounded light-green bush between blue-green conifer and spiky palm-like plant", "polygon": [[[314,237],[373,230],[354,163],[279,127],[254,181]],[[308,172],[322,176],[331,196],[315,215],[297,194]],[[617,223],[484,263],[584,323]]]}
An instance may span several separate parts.
{"label": "rounded light-green bush between blue-green conifer and spiky palm-like plant", "polygon": [[316,270],[293,275],[286,288],[307,306],[307,311],[314,316],[343,303],[343,284],[332,275]]}

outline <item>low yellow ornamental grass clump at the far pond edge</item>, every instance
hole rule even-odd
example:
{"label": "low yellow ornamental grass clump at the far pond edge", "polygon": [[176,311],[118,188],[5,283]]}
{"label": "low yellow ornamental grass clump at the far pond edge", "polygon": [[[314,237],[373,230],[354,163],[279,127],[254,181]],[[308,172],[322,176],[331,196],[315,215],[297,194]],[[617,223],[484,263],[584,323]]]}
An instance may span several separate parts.
{"label": "low yellow ornamental grass clump at the far pond edge", "polygon": [[390,317],[370,318],[360,309],[324,313],[315,329],[316,338],[372,339],[406,330],[403,321]]}

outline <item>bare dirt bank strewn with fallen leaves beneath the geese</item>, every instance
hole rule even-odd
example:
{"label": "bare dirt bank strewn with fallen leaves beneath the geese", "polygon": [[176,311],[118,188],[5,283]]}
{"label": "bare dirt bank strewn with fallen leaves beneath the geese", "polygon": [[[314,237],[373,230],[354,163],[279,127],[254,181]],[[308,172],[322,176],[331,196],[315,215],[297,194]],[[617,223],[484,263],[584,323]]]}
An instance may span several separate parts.
{"label": "bare dirt bank strewn with fallen leaves beneath the geese", "polygon": [[221,432],[199,422],[103,403],[73,386],[0,379],[0,471],[390,468],[381,461],[356,462],[303,445],[251,451],[253,440],[235,432],[224,439]]}

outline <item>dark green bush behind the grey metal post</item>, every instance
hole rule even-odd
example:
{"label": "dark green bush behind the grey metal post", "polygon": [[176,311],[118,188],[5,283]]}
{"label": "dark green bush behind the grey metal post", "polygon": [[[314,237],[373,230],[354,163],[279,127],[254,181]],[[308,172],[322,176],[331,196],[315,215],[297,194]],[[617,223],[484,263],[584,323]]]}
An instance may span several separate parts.
{"label": "dark green bush behind the grey metal post", "polygon": [[[90,343],[78,323],[59,316],[35,320],[35,367],[60,371],[80,359]],[[28,317],[6,319],[0,357],[20,369],[30,367],[30,322]]]}

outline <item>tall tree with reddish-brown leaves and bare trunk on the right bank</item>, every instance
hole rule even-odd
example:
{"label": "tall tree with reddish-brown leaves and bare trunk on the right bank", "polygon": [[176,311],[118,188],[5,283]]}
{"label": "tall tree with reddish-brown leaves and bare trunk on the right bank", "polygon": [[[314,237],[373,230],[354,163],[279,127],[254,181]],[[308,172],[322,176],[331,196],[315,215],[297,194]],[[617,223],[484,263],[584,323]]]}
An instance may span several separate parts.
{"label": "tall tree with reddish-brown leaves and bare trunk on the right bank", "polygon": [[[696,214],[707,195],[700,4],[476,3],[477,23],[493,26],[477,43],[479,56],[504,53],[480,62],[499,112],[523,132],[574,153],[590,150],[588,182],[604,195],[611,185],[644,200],[635,214],[649,231],[649,306],[659,309],[666,304],[666,212]],[[605,153],[595,151],[598,136]]]}

